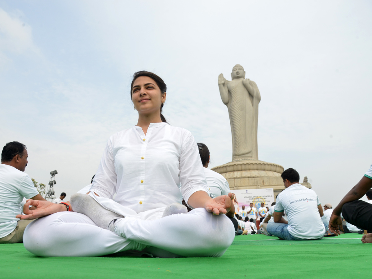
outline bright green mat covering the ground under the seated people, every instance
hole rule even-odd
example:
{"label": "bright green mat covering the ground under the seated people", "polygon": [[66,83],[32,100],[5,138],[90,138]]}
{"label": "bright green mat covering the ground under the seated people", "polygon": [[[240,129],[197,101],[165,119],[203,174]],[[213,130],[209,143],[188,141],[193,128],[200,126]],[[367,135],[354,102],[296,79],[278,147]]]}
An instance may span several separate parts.
{"label": "bright green mat covering the ground under the seated people", "polygon": [[[372,244],[359,234],[285,241],[239,235],[220,258],[36,257],[0,244],[0,278],[345,278],[372,275]],[[353,277],[353,278],[354,278]]]}

